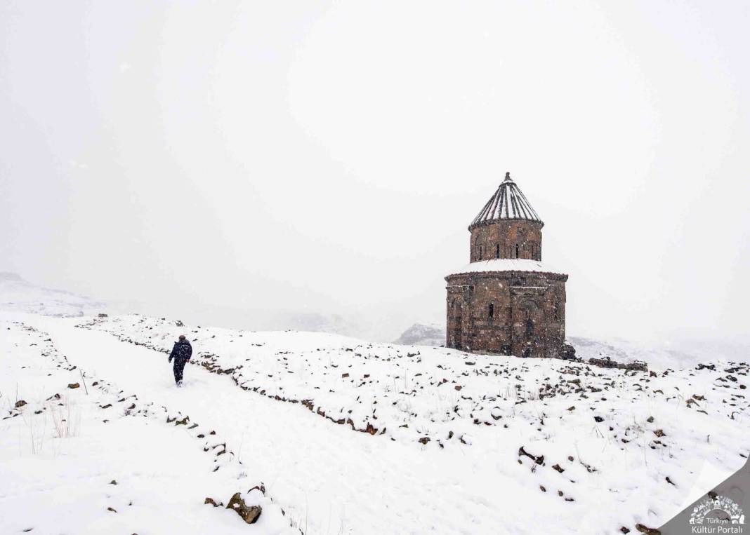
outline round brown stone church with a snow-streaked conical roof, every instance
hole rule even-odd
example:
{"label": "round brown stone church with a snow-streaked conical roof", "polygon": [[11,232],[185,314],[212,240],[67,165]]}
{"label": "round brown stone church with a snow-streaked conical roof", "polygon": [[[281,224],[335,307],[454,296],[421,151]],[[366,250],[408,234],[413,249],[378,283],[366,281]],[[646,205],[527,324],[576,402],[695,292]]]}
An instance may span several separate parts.
{"label": "round brown stone church with a snow-streaked conical roof", "polygon": [[463,351],[560,357],[565,281],[541,262],[544,226],[510,173],[469,225],[469,264],[446,276],[446,345]]}

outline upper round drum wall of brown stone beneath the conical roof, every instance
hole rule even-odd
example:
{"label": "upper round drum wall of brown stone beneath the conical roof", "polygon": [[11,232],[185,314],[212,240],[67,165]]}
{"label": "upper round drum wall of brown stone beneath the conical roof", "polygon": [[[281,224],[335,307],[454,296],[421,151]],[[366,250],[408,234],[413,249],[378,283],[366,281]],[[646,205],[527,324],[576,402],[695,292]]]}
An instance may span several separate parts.
{"label": "upper round drum wall of brown stone beneath the conical roof", "polygon": [[469,262],[488,259],[541,260],[541,227],[525,220],[496,220],[469,227]]}

